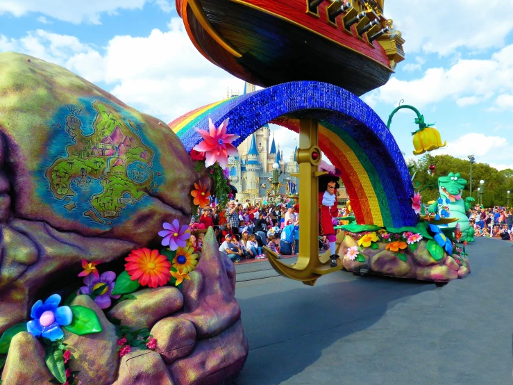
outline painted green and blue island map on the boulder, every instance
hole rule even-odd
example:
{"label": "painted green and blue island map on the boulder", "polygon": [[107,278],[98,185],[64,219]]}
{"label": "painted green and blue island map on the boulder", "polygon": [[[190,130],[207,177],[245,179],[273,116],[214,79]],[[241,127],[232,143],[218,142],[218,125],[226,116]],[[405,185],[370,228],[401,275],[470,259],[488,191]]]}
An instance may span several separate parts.
{"label": "painted green and blue island map on the boulder", "polygon": [[154,150],[143,144],[133,120],[125,122],[114,106],[94,100],[87,110],[68,107],[65,121],[53,124],[62,130],[61,143],[68,145],[46,177],[67,211],[111,224],[155,187]]}

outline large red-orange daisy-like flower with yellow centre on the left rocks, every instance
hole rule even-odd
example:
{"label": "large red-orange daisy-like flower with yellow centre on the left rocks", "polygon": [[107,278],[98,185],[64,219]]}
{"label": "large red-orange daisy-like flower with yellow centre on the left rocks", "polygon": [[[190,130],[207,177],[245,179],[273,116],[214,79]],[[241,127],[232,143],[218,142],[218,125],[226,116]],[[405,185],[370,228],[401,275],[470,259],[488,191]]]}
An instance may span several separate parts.
{"label": "large red-orange daisy-like flower with yellow centre on the left rocks", "polygon": [[167,258],[158,253],[158,250],[142,249],[133,250],[125,258],[125,270],[131,276],[132,281],[139,279],[141,286],[157,288],[164,286],[171,279],[169,268],[171,263]]}

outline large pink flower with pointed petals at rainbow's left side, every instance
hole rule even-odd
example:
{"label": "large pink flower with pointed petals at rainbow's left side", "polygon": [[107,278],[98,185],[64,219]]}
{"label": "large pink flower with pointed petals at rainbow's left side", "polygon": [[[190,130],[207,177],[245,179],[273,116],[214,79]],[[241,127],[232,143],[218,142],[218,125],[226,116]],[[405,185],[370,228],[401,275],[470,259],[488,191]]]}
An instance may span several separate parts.
{"label": "large pink flower with pointed petals at rainbow's left side", "polygon": [[204,151],[206,153],[205,166],[210,167],[216,162],[222,168],[228,165],[228,155],[237,156],[239,151],[232,145],[233,140],[238,139],[238,135],[226,133],[226,127],[228,126],[228,119],[221,123],[216,129],[212,120],[208,119],[209,131],[195,129],[203,141],[199,145],[194,146],[196,151]]}

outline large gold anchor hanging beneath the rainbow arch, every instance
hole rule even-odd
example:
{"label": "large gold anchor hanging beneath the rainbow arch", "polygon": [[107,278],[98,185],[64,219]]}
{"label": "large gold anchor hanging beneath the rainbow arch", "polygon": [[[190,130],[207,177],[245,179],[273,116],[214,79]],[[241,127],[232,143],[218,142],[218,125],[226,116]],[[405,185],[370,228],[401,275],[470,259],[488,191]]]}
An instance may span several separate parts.
{"label": "large gold anchor hanging beneath the rainbow arch", "polygon": [[[310,117],[301,118],[299,122],[299,149],[296,161],[299,163],[299,203],[301,205],[301,233],[299,236],[298,261],[287,265],[280,261],[278,254],[269,247],[262,247],[271,266],[279,275],[302,281],[303,284],[314,286],[321,275],[342,270],[342,261],[337,259],[337,266],[330,267],[330,250],[319,256],[319,178],[328,172],[317,171],[321,163],[321,149],[318,146],[318,122]],[[336,249],[346,236],[345,231],[337,234]]]}

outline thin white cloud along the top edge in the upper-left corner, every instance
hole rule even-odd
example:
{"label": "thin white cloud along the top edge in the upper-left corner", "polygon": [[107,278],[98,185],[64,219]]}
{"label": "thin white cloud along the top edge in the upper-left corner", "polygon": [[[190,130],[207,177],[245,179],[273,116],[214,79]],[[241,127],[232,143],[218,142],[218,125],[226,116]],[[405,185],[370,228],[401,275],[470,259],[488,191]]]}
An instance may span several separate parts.
{"label": "thin white cloud along the top edge in the upper-left corner", "polygon": [[101,24],[102,13],[112,15],[123,9],[142,9],[149,2],[155,3],[167,13],[174,9],[167,0],[0,0],[0,15],[10,13],[19,17],[33,12],[73,24]]}

